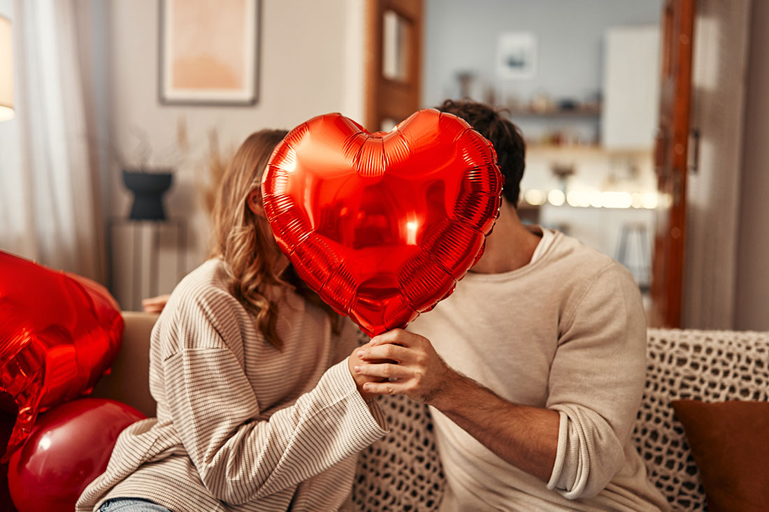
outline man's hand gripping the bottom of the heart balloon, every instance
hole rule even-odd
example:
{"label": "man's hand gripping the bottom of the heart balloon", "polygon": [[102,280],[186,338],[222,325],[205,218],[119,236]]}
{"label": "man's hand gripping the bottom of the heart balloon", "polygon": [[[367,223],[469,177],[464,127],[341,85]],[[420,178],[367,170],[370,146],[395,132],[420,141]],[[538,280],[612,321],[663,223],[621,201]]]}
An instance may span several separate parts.
{"label": "man's hand gripping the bottom of the heart balloon", "polygon": [[405,394],[436,405],[457,377],[426,337],[403,329],[375,336],[356,352],[363,361],[352,365],[353,374],[380,381],[364,384],[369,393]]}

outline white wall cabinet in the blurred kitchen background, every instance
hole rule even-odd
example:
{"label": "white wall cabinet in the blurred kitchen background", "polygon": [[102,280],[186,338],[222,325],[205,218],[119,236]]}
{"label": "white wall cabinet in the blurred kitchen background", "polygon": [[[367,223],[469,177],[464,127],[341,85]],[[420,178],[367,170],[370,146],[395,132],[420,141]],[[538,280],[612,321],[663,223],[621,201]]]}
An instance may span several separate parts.
{"label": "white wall cabinet in the blurred kitchen background", "polygon": [[660,84],[656,26],[609,28],[604,38],[601,144],[611,150],[653,147]]}

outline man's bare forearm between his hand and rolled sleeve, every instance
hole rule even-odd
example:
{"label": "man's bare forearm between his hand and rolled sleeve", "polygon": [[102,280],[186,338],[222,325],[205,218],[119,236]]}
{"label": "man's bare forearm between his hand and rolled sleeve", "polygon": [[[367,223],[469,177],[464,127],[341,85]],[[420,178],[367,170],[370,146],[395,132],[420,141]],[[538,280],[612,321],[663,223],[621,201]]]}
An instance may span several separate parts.
{"label": "man's bare forearm between his hand and rolled sleeve", "polygon": [[557,411],[512,404],[456,374],[429,401],[498,457],[547,482],[558,449]]}

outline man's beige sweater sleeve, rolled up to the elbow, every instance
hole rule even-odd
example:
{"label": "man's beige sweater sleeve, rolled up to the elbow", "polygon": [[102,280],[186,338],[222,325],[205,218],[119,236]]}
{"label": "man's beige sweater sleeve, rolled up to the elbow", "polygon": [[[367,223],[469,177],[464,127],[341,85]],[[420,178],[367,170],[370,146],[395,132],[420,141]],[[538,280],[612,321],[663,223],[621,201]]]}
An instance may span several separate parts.
{"label": "man's beige sweater sleeve, rolled up to the elbow", "polygon": [[547,407],[558,411],[548,482],[564,497],[594,497],[624,464],[641,404],[646,318],[631,274],[612,262],[595,276],[561,329]]}

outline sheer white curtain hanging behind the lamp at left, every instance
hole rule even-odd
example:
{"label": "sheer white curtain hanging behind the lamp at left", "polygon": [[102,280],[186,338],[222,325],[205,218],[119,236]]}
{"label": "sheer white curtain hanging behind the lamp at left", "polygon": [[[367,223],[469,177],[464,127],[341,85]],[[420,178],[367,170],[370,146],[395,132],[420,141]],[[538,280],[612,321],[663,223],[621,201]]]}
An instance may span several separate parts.
{"label": "sheer white curtain hanging behind the lamp at left", "polygon": [[3,8],[16,117],[0,123],[0,249],[104,281],[75,0],[0,0]]}

